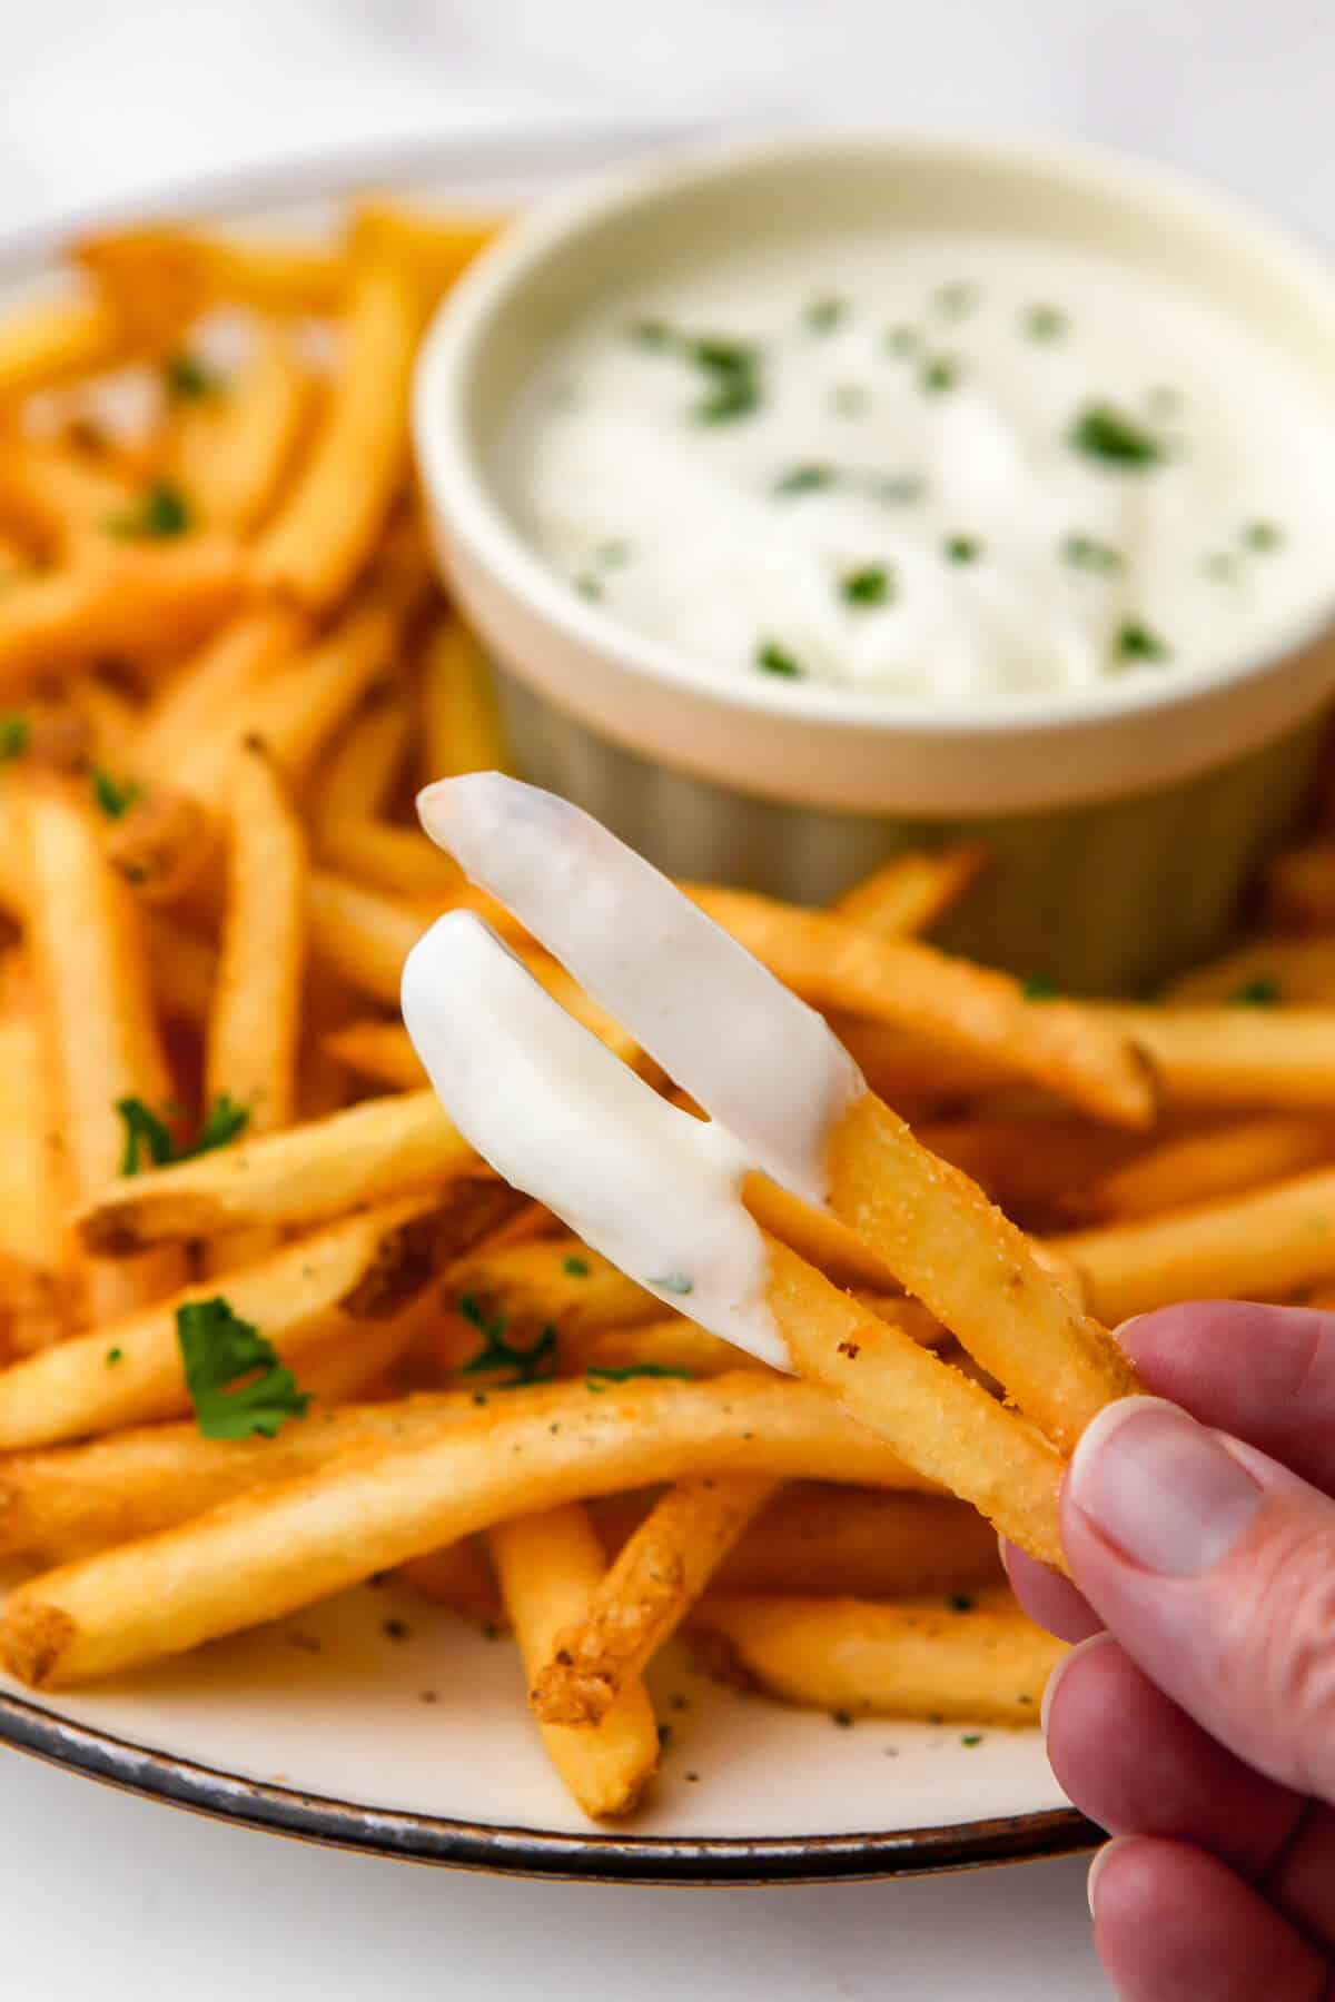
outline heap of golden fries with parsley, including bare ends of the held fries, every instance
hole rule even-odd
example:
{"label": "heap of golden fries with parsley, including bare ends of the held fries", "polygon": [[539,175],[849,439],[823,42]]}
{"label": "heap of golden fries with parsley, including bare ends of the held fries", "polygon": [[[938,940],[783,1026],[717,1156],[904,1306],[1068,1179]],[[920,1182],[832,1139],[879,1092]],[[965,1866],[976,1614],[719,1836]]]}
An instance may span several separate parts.
{"label": "heap of golden fries with parsley, including bare ends of the held fries", "polygon": [[492,226],[154,226],[0,324],[0,1650],[64,1688],[394,1570],[512,1630],[562,1780],[622,1816],[677,1630],[841,1720],[1037,1720],[1061,1648],[985,1518],[1061,1562],[1065,1455],[1131,1387],[1099,1323],[1335,1301],[1335,841],[1143,1005],[921,943],[987,895],[975,849],[829,913],[697,885],[913,1137],[851,1147],[857,1227],[749,1195],[805,1377],[666,1313],[484,1167],[398,1021],[462,905],[675,1085],[412,823],[504,769],[406,430]]}

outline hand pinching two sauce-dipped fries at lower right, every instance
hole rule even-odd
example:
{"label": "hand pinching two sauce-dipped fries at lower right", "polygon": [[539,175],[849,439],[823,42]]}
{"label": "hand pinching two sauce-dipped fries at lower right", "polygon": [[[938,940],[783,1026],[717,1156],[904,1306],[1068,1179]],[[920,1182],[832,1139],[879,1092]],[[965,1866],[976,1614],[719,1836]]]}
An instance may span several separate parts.
{"label": "hand pinching two sauce-dipped fries at lower right", "polygon": [[[1167,1307],[1119,1339],[1157,1397],[1109,1405],[1063,1489],[1079,1590],[1017,1550],[1083,1642],[1045,1700],[1123,2002],[1335,1996],[1335,1313]],[[1185,1413],[1193,1415],[1187,1417]],[[1211,1427],[1211,1429],[1207,1429]]]}

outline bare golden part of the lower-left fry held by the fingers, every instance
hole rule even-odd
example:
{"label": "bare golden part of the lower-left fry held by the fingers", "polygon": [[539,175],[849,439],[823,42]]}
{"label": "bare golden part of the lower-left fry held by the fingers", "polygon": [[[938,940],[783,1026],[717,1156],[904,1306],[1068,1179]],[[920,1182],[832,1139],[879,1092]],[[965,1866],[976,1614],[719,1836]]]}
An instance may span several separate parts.
{"label": "bare golden part of the lower-left fry held by the fingers", "polygon": [[1033,1558],[1065,1570],[1057,1449],[979,1383],[859,1307],[775,1239],[769,1269],[767,1297],[795,1367],[833,1391],[925,1479],[971,1501]]}

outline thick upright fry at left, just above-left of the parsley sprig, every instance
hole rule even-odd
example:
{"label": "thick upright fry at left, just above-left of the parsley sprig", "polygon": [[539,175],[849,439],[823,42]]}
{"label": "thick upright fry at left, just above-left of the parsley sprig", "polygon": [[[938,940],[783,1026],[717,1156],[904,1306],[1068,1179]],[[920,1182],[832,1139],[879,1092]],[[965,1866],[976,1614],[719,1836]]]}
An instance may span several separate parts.
{"label": "thick upright fry at left, just above-left of the parsley sprig", "polygon": [[[68,1197],[120,1173],[120,1099],[162,1107],[172,1081],[158,1041],[134,899],[100,849],[92,805],[30,773],[18,805],[30,871],[26,931],[38,987],[44,1075],[62,1137]],[[94,1315],[124,1313],[180,1283],[176,1251],[134,1265],[86,1263]]]}

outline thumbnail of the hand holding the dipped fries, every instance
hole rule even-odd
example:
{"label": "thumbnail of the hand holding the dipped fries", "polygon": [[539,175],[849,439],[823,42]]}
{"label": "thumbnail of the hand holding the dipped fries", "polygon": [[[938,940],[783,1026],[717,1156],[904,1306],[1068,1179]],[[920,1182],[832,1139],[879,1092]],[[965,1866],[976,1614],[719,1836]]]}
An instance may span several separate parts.
{"label": "thumbnail of the hand holding the dipped fries", "polygon": [[1147,1572],[1199,1578],[1233,1550],[1265,1495],[1251,1473],[1177,1405],[1123,1397],[1085,1427],[1067,1493]]}

